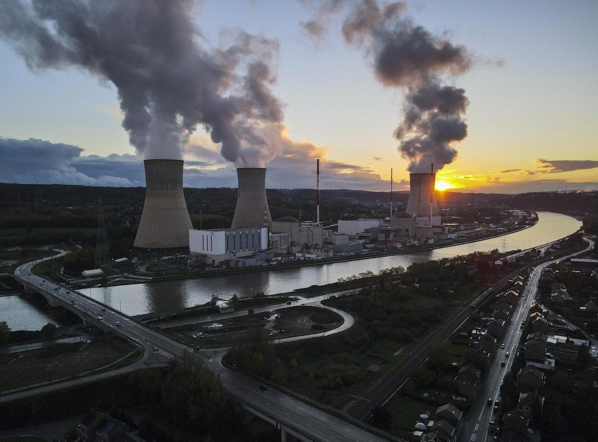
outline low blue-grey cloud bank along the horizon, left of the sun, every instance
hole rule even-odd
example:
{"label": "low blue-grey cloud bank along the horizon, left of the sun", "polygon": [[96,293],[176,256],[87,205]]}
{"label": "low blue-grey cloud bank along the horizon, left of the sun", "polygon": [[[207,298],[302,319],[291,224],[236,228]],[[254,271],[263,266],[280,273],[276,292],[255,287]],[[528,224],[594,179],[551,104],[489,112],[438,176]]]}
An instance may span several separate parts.
{"label": "low blue-grey cloud bank along the horizon, left of the sun", "polygon": [[[267,165],[269,188],[313,188],[316,158],[320,158],[320,183],[327,189],[386,190],[389,181],[366,166],[327,158],[328,148],[309,141],[293,141],[286,127],[271,126],[261,133],[276,145],[279,157]],[[185,147],[184,185],[187,187],[236,187],[233,164],[224,161],[213,144],[197,136]],[[83,184],[112,187],[145,185],[144,165],[135,155],[83,155],[83,148],[43,141],[0,138],[0,181],[30,184]],[[396,190],[408,188],[398,182]]]}

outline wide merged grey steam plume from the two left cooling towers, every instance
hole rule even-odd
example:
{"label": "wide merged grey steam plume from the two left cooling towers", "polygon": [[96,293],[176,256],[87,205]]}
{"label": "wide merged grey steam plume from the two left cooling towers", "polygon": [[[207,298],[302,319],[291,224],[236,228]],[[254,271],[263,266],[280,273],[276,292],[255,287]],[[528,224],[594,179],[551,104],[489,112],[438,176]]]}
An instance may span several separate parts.
{"label": "wide merged grey steam plume from the two left cooling towers", "polygon": [[258,129],[282,121],[270,90],[278,44],[238,32],[227,48],[207,47],[193,0],[3,0],[0,36],[30,69],[74,66],[113,83],[122,125],[145,158],[181,158],[202,125],[227,160],[270,159]]}

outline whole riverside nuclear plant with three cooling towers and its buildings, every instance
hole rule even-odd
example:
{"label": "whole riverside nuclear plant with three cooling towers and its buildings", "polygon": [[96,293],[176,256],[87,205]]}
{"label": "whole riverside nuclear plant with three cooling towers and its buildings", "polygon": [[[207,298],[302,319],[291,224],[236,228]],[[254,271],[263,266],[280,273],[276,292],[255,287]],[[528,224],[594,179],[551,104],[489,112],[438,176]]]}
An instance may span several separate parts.
{"label": "whole riverside nuclear plant with three cooling towers and its buildings", "polygon": [[336,224],[325,225],[319,220],[319,160],[316,221],[290,216],[272,220],[266,196],[266,169],[240,167],[231,226],[196,230],[185,205],[182,170],[183,161],[145,161],[147,194],[135,247],[142,254],[163,258],[158,261],[161,265],[154,266],[156,269],[167,267],[164,258],[176,258],[189,269],[270,266],[388,252],[501,230],[494,225],[443,224],[434,191],[433,165],[429,173],[410,174],[410,193],[404,211],[393,210],[391,178],[388,216],[338,220]]}

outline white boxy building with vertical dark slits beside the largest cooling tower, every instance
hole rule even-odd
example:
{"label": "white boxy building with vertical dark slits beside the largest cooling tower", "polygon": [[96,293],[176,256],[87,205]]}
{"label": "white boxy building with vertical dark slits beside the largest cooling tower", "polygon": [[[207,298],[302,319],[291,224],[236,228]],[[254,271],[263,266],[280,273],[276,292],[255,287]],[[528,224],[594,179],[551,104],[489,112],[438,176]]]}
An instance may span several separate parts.
{"label": "white boxy building with vertical dark slits beside the largest cooling tower", "polygon": [[189,230],[189,251],[204,264],[218,265],[268,248],[267,227]]}

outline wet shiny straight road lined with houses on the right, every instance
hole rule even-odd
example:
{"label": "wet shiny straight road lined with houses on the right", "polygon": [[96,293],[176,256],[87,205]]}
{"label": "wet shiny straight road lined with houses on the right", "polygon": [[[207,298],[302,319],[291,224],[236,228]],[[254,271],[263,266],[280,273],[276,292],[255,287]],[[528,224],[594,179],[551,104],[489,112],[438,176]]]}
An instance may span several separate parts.
{"label": "wet shiny straight road lined with houses on the right", "polygon": [[[490,369],[486,375],[486,380],[484,381],[480,392],[475,398],[474,403],[469,409],[465,427],[463,428],[463,441],[486,441],[488,423],[490,420],[495,420],[495,422],[498,420],[498,416],[494,416],[493,406],[495,401],[500,396],[502,378],[506,373],[508,373],[509,370],[511,370],[512,360],[517,352],[518,343],[521,333],[523,332],[521,324],[523,324],[523,322],[526,320],[529,308],[533,303],[536,292],[538,291],[538,282],[542,277],[542,270],[544,270],[544,267],[550,266],[557,261],[565,260],[592,249],[594,247],[594,242],[592,240],[589,240],[589,242],[590,244],[583,251],[539,264],[532,270],[532,273],[530,273],[527,285],[523,291],[523,295],[519,300],[517,311],[511,318],[509,327],[503,335],[502,343],[504,343],[505,348],[499,348],[497,350],[496,357],[490,365]],[[505,357],[507,352],[509,352],[508,358]],[[502,361],[507,362],[505,367],[502,367]],[[487,405],[488,398],[492,398],[492,406]],[[504,412],[505,410],[501,411]],[[494,417],[494,419],[492,419],[492,417]]]}

